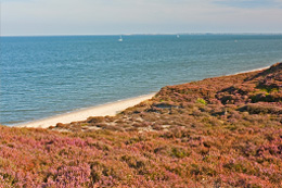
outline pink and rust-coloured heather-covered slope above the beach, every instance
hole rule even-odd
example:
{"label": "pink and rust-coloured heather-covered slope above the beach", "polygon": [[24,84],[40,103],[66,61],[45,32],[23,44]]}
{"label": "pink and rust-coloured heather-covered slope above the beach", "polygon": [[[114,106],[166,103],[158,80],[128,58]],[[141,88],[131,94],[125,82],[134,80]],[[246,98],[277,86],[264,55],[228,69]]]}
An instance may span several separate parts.
{"label": "pink and rust-coloured heather-covered slope above the beach", "polygon": [[0,185],[282,187],[282,63],[167,86],[116,116],[0,126]]}

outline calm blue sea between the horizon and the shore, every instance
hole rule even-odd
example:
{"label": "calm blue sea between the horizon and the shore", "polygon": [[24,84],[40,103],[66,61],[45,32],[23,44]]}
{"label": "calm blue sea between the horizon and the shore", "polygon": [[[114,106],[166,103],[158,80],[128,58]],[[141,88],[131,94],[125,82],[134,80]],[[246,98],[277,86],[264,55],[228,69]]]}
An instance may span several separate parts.
{"label": "calm blue sea between the horizon and the shore", "polygon": [[13,125],[282,61],[282,35],[1,37],[0,123]]}

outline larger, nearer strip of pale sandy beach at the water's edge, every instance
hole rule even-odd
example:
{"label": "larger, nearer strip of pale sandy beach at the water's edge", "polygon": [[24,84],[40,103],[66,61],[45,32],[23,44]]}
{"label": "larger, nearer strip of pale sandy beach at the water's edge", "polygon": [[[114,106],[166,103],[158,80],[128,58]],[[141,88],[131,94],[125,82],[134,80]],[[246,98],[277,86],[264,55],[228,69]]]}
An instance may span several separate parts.
{"label": "larger, nearer strip of pale sandy beach at the water's edge", "polygon": [[151,99],[155,93],[140,96],[137,98],[125,99],[112,103],[106,103],[102,105],[97,105],[88,109],[82,109],[74,112],[68,112],[65,114],[54,115],[47,118],[41,118],[34,122],[16,124],[15,127],[34,127],[34,128],[48,128],[49,126],[55,126],[57,123],[70,123],[85,121],[89,116],[106,116],[116,115],[118,112],[126,110],[127,108],[139,104],[140,102]]}

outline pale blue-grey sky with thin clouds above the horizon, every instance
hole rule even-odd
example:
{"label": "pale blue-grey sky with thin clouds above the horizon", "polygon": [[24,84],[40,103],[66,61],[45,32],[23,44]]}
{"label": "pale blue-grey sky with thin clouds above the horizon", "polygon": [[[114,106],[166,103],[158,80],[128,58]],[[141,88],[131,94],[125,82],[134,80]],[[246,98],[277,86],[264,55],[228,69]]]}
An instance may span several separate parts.
{"label": "pale blue-grey sky with thin clouds above the horizon", "polygon": [[1,0],[1,36],[282,33],[282,0]]}

